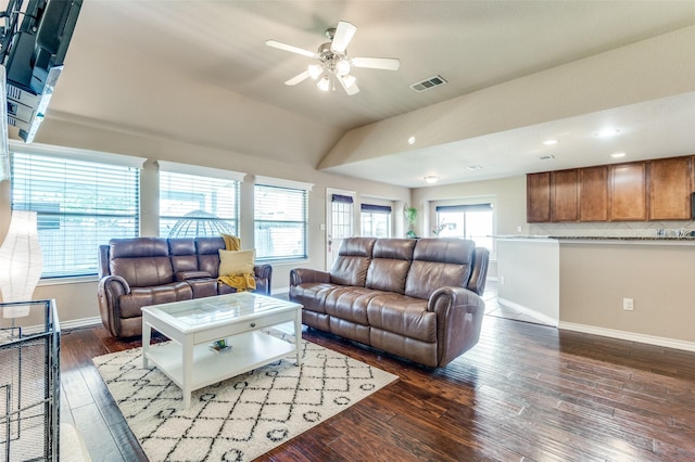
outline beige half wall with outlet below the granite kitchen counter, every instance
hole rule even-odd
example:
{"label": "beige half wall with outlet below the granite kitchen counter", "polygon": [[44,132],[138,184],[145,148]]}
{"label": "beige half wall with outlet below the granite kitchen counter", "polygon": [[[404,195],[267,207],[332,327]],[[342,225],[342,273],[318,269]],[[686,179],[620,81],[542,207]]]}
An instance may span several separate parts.
{"label": "beige half wall with outlet below the granite kitchen counter", "polygon": [[[560,245],[563,322],[695,343],[695,244]],[[622,298],[634,299],[634,311]]]}

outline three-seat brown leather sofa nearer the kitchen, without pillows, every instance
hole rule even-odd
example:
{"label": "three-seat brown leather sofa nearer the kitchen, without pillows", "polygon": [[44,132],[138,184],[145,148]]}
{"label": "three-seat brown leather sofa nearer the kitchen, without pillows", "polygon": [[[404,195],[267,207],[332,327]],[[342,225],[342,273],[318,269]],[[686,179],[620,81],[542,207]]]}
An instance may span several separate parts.
{"label": "three-seat brown leather sofa nearer the kitchen, without pillows", "polygon": [[290,299],[309,328],[427,367],[480,338],[489,253],[462,239],[343,241],[330,272],[290,271]]}

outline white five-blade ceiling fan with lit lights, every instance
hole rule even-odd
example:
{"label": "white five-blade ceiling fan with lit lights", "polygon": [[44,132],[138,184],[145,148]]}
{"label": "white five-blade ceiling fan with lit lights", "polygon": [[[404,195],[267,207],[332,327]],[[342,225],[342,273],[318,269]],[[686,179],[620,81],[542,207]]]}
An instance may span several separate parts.
{"label": "white five-blade ceiling fan with lit lights", "polygon": [[331,27],[326,30],[325,35],[330,41],[320,44],[317,52],[304,50],[277,40],[266,40],[265,44],[313,57],[319,62],[318,64],[309,64],[306,70],[287,80],[285,85],[296,85],[311,77],[317,80],[316,86],[320,90],[328,91],[331,88],[331,82],[334,87],[334,81],[338,80],[345,92],[352,95],[359,91],[357,79],[350,74],[353,67],[397,70],[401,66],[401,61],[395,57],[349,57],[348,44],[356,31],[357,27],[351,23],[345,21],[339,22],[338,27]]}

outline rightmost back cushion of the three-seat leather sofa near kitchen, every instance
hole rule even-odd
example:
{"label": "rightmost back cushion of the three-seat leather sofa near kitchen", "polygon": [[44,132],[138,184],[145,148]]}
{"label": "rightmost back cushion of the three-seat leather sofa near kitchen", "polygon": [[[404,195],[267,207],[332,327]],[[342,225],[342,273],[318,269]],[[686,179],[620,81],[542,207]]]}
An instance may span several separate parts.
{"label": "rightmost back cushion of the three-seat leather sofa near kitchen", "polygon": [[405,295],[428,299],[440,287],[463,287],[470,277],[475,242],[462,239],[419,240],[405,282]]}

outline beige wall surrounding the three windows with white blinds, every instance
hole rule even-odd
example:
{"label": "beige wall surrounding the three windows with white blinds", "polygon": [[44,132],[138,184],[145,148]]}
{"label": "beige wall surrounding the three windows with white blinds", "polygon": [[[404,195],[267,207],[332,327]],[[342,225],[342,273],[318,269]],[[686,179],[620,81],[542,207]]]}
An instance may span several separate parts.
{"label": "beige wall surrounding the three windows with white blinds", "polygon": [[[362,195],[380,197],[403,204],[409,201],[409,190],[383,183],[356,180],[330,174],[323,174],[313,168],[311,158],[302,153],[288,151],[287,162],[268,161],[244,153],[224,151],[217,147],[205,147],[181,141],[157,137],[147,137],[131,132],[119,132],[87,125],[73,124],[65,120],[47,119],[36,140],[37,143],[86,149],[115,154],[132,155],[148,158],[142,170],[142,235],[157,233],[157,183],[154,161],[165,159],[184,164],[223,168],[249,174],[241,188],[241,241],[244,248],[253,246],[253,219],[249,217],[253,210],[253,176],[282,178],[313,183],[309,193],[309,249],[307,261],[295,261],[288,265],[274,265],[273,290],[281,291],[289,286],[289,271],[296,266],[325,269],[325,231],[320,226],[326,222],[326,188],[339,188],[357,192]],[[275,154],[277,157],[277,153]],[[0,183],[0,240],[4,239],[10,221],[10,184]],[[72,282],[64,284],[39,284],[35,298],[55,298],[59,316],[63,325],[71,321],[99,317],[97,305],[97,281]]]}

